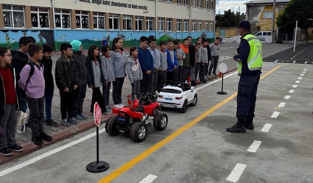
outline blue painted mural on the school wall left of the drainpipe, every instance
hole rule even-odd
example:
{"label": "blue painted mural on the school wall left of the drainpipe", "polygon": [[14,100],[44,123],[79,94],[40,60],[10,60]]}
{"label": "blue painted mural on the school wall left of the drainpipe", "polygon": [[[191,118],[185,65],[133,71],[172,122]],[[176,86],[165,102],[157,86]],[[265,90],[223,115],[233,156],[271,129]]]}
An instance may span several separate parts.
{"label": "blue painted mural on the school wall left of the drainpipe", "polygon": [[18,49],[22,36],[31,36],[39,44],[49,44],[54,48],[52,30],[0,30],[0,46],[6,46],[12,50]]}

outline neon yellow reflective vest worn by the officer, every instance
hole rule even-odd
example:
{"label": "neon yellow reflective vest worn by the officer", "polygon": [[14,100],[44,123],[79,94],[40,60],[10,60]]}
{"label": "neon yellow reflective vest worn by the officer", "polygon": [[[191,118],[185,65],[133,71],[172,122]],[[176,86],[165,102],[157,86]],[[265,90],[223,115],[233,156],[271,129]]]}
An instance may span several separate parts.
{"label": "neon yellow reflective vest worn by the officer", "polygon": [[[262,43],[252,34],[247,34],[243,39],[248,41],[250,45],[250,52],[247,59],[248,68],[250,71],[262,69]],[[237,62],[238,75],[242,72],[242,62]]]}

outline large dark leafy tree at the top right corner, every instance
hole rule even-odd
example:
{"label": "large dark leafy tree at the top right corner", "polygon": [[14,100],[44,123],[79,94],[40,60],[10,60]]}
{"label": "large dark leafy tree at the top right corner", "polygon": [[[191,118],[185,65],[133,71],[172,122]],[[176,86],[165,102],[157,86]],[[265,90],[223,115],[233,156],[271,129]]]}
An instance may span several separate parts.
{"label": "large dark leafy tree at the top right corner", "polygon": [[298,20],[298,27],[305,30],[313,27],[313,0],[291,0],[278,15],[277,26],[287,33],[292,33]]}

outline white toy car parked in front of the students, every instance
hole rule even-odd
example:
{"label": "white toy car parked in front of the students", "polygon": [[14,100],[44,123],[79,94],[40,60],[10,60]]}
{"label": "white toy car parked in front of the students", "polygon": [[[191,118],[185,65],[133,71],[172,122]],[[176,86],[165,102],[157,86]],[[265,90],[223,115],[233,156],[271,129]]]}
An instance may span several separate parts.
{"label": "white toy car parked in front of the students", "polygon": [[187,83],[173,83],[162,88],[159,93],[157,102],[162,108],[178,108],[179,112],[184,113],[187,110],[187,105],[195,106],[198,102],[198,94],[194,86],[189,86]]}

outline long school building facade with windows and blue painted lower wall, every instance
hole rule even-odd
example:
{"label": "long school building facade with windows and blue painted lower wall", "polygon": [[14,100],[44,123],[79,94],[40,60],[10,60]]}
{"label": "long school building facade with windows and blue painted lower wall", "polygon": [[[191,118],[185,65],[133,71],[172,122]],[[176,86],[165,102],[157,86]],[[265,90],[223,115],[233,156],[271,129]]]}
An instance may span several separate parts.
{"label": "long school building facade with windows and blue painted lower wall", "polygon": [[22,36],[59,48],[63,42],[89,44],[141,36],[157,40],[187,36],[214,38],[216,0],[1,0],[0,45],[18,47]]}

